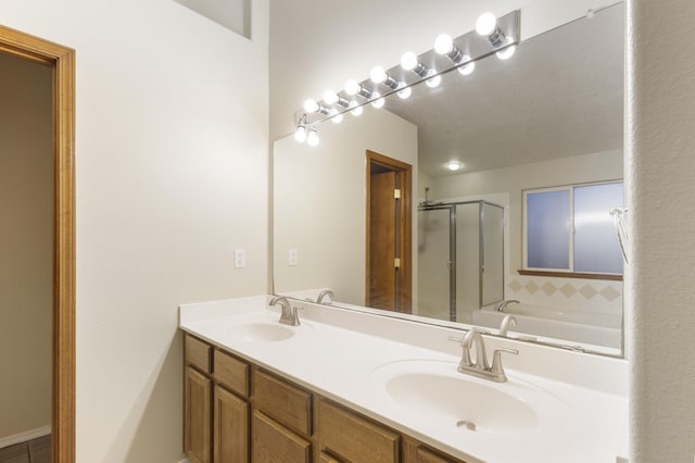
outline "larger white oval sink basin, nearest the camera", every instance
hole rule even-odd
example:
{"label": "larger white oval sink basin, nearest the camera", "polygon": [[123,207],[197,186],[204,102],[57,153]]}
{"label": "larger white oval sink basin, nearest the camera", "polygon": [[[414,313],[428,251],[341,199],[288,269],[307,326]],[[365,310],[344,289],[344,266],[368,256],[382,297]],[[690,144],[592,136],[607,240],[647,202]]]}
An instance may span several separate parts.
{"label": "larger white oval sink basin, nearest the camera", "polygon": [[392,362],[372,371],[372,388],[403,413],[462,433],[526,434],[561,402],[530,384],[493,383],[456,371],[454,362]]}

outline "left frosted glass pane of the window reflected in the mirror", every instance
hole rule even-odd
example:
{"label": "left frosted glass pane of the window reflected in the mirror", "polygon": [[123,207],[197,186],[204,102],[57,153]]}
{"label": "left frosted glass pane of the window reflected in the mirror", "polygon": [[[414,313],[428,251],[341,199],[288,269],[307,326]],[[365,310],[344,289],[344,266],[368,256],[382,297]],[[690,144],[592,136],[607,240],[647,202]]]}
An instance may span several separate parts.
{"label": "left frosted glass pane of the window reflected in the mirror", "polygon": [[569,267],[569,190],[527,195],[527,260],[531,268]]}

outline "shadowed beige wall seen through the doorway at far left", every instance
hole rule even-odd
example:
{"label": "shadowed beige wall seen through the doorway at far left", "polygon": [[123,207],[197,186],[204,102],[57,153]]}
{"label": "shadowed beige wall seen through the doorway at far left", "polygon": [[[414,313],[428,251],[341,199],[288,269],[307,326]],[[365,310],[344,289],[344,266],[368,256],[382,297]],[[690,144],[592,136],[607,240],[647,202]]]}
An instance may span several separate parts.
{"label": "shadowed beige wall seen through the doorway at far left", "polygon": [[0,440],[51,424],[51,77],[0,53]]}

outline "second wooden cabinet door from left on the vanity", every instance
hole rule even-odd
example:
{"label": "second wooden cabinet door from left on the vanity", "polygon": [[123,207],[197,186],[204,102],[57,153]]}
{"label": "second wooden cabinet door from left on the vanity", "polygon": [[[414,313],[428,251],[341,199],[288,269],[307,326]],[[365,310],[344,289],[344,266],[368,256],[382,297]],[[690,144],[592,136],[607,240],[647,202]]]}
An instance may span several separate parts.
{"label": "second wooden cabinet door from left on the vanity", "polygon": [[249,404],[215,386],[215,463],[249,461]]}

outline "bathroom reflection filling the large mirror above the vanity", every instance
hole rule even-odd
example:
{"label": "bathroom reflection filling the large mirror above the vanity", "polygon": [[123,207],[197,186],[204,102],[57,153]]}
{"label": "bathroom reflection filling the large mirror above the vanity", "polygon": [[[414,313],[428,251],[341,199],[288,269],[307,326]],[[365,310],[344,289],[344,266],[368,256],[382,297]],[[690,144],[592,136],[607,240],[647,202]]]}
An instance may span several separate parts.
{"label": "bathroom reflection filling the large mirror above the vanity", "polygon": [[[321,123],[317,147],[277,140],[274,291],[315,299],[330,288],[333,304],[365,305],[371,151],[413,166],[406,312],[496,333],[495,309],[519,301],[505,309],[518,337],[619,352],[620,275],[534,272],[522,248],[525,191],[622,179],[622,23],[618,4],[532,37],[509,60]],[[606,205],[604,222],[609,208],[622,204]]]}

